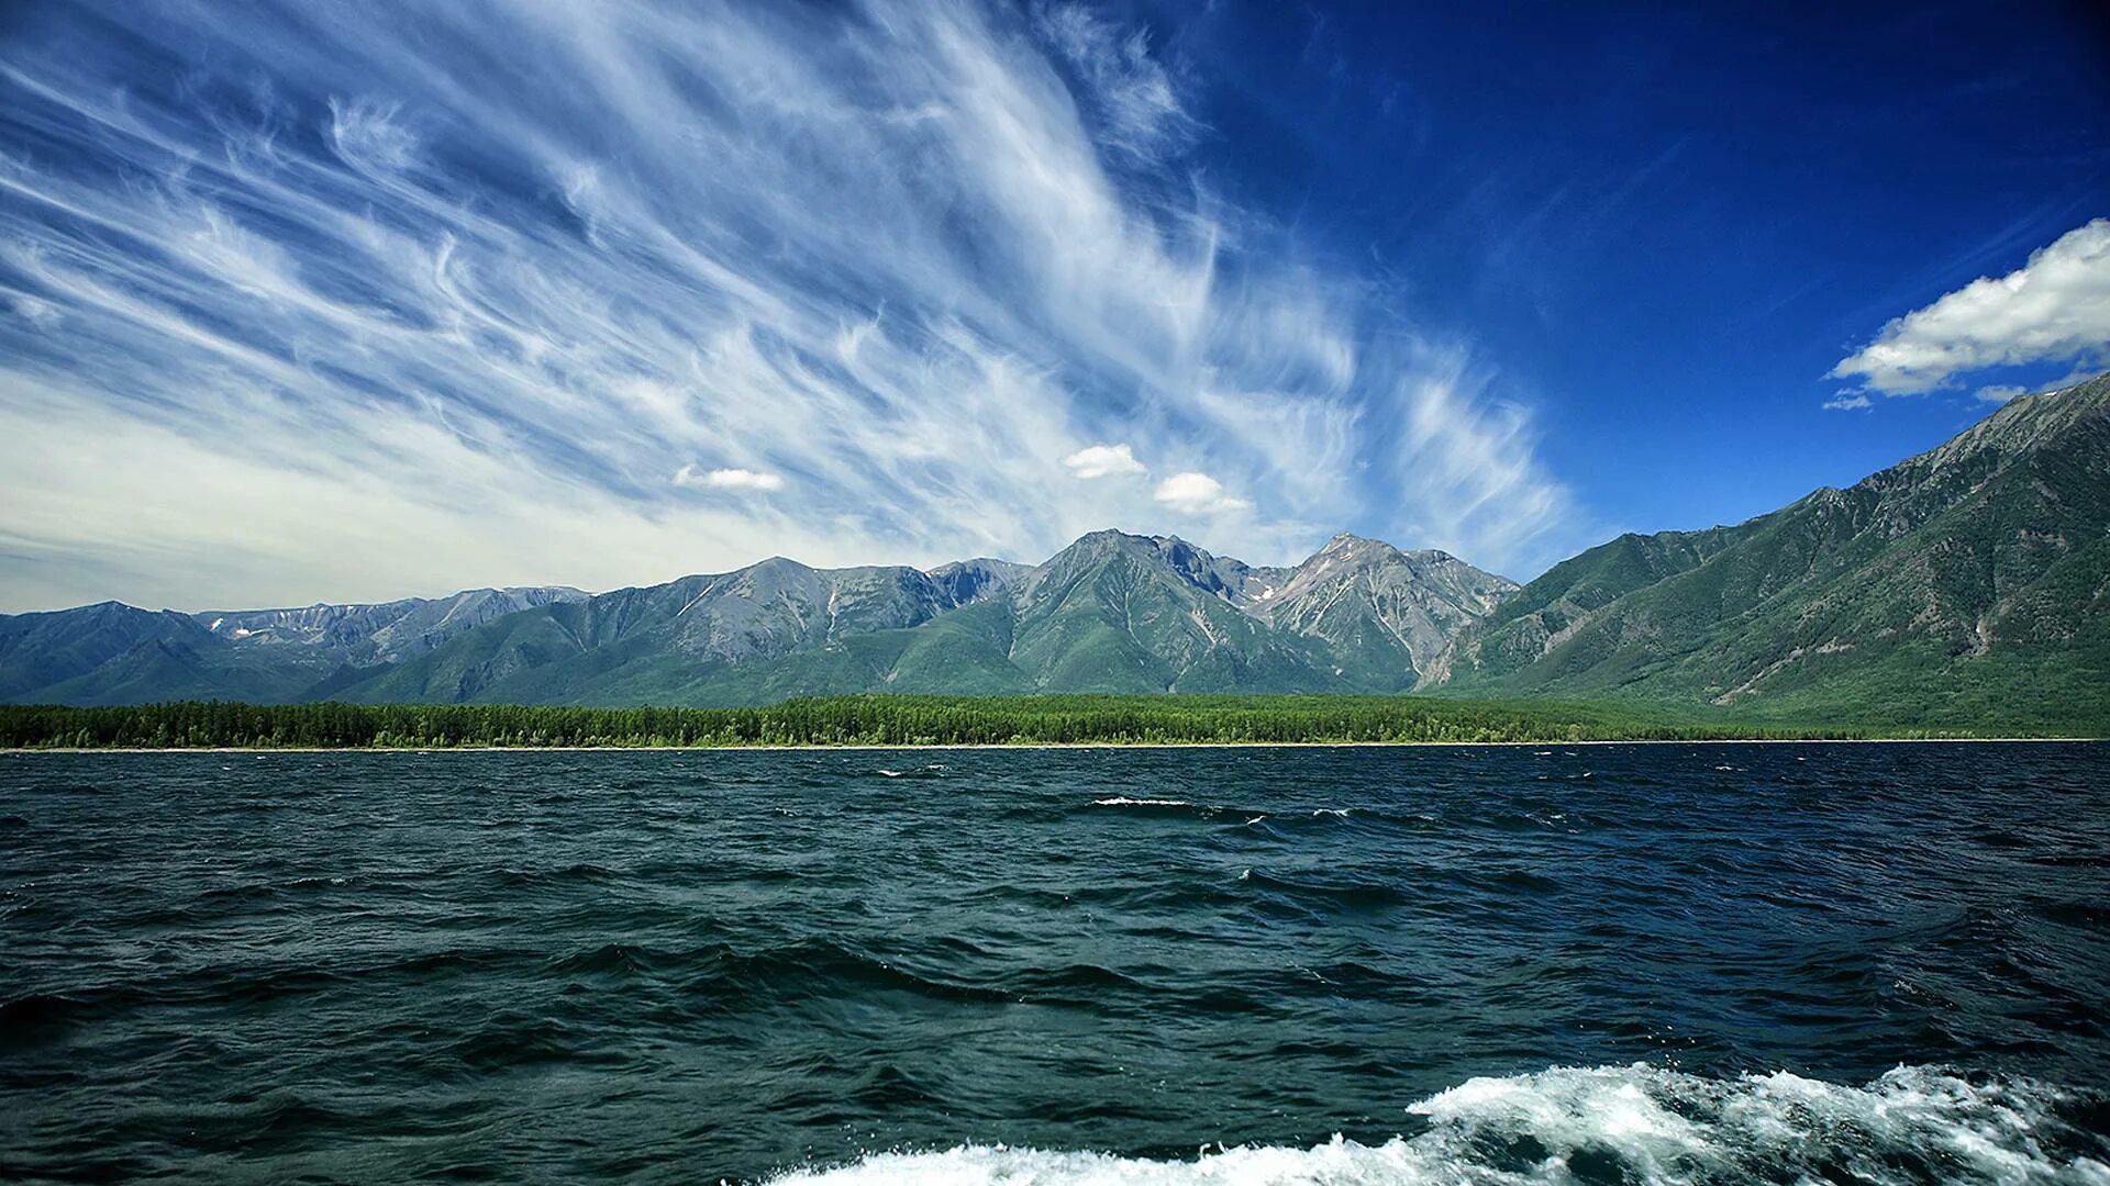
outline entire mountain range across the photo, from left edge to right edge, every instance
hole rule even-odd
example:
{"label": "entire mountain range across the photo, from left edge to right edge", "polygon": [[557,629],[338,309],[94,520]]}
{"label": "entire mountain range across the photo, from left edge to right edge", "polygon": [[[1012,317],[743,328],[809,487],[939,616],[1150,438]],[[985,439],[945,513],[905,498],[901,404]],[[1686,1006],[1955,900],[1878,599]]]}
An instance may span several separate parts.
{"label": "entire mountain range across the photo, from left edge to right edge", "polygon": [[1260,568],[1093,532],[1044,563],[772,557],[589,595],[0,616],[0,701],[749,705],[833,692],[1405,692],[2110,726],[2110,376],[1846,490],[1517,587],[1336,536]]}

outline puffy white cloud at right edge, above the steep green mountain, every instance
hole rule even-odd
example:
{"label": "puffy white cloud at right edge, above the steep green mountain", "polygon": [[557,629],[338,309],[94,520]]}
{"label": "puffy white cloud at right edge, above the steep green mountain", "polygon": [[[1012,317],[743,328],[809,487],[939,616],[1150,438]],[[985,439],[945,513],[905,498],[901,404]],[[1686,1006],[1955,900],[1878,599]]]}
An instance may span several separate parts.
{"label": "puffy white cloud at right edge, above the steep green mountain", "polygon": [[2110,348],[2110,219],[2061,234],[2004,276],[1979,276],[1899,317],[1831,367],[1867,390],[1916,395],[1996,365],[2057,363]]}

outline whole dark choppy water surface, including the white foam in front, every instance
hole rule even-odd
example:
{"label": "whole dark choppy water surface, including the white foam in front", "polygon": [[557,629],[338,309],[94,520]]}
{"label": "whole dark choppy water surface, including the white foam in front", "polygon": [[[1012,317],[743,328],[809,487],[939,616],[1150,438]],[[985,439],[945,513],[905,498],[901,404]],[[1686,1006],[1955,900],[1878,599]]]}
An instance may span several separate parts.
{"label": "whole dark choppy water surface, including the white foam in front", "polygon": [[2110,1182],[2106,774],[0,755],[0,1178]]}

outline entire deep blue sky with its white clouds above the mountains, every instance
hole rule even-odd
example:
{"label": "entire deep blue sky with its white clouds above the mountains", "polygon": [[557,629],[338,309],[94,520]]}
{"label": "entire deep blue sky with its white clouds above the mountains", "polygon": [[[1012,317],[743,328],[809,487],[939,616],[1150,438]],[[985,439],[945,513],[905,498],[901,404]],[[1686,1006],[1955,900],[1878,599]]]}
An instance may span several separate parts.
{"label": "entire deep blue sky with its white clouds above the mountains", "polygon": [[2110,369],[2087,4],[0,8],[0,612],[1513,578]]}

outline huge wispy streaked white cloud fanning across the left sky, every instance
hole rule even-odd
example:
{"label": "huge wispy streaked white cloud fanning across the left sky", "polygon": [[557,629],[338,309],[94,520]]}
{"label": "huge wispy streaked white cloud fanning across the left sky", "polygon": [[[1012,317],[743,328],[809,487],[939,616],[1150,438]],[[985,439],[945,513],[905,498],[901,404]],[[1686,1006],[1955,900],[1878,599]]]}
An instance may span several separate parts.
{"label": "huge wispy streaked white cloud fanning across the left sky", "polygon": [[[0,42],[0,144],[38,146],[0,152],[0,608],[1038,559],[1167,513],[1255,561],[1365,523],[1517,566],[1566,521],[1521,405],[1374,352],[1361,279],[1186,165],[1201,120],[1142,30],[224,25],[173,0]],[[1184,473],[1076,481],[1137,456]],[[1182,479],[1213,487],[1158,498]]]}

